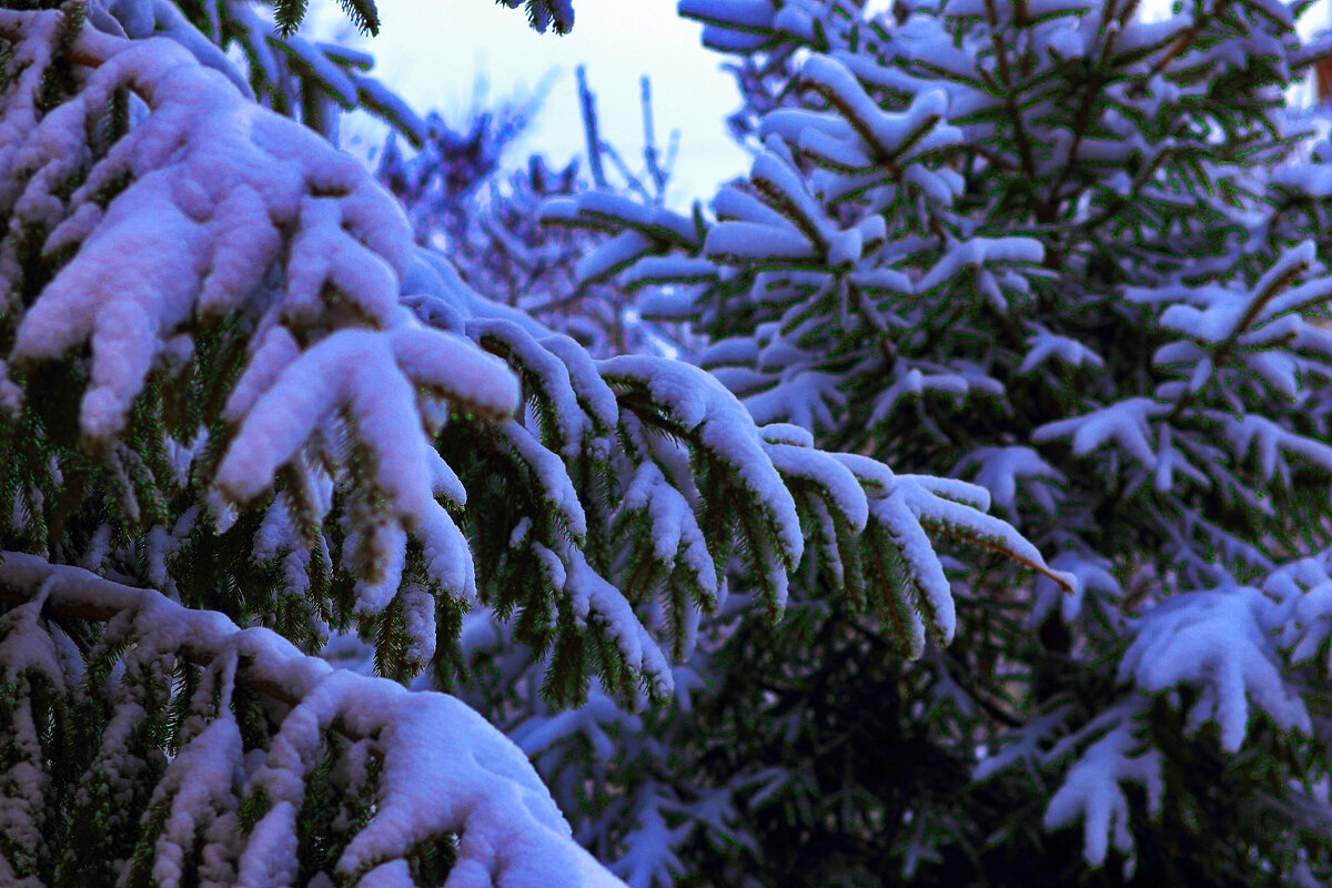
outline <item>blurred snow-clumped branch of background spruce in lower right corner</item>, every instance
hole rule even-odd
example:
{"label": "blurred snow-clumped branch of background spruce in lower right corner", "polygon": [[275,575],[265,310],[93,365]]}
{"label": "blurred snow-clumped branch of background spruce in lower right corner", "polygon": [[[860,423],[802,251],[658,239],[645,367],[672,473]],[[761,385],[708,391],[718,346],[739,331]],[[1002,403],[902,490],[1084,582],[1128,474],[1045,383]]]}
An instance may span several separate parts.
{"label": "blurred snow-clumped branch of background spruce in lower right corner", "polygon": [[[1154,747],[1151,710],[1164,698],[1191,704],[1184,731],[1192,736],[1215,730],[1221,750],[1239,754],[1248,739],[1267,732],[1309,736],[1309,710],[1317,686],[1332,672],[1327,651],[1332,627],[1332,578],[1328,553],[1283,564],[1264,588],[1193,591],[1171,598],[1135,620],[1132,643],[1119,663],[1116,680],[1128,694],[1095,718],[1058,738],[1071,707],[1055,707],[1003,738],[978,768],[986,780],[1024,763],[1067,772],[1046,807],[1044,824],[1059,828],[1082,821],[1083,855],[1092,865],[1106,861],[1111,847],[1132,859],[1130,803],[1126,784],[1147,791],[1147,813],[1159,819],[1166,793],[1166,759]],[[1055,739],[1058,738],[1058,740]],[[1315,791],[1291,785],[1291,823],[1315,836],[1327,835],[1332,805]]]}

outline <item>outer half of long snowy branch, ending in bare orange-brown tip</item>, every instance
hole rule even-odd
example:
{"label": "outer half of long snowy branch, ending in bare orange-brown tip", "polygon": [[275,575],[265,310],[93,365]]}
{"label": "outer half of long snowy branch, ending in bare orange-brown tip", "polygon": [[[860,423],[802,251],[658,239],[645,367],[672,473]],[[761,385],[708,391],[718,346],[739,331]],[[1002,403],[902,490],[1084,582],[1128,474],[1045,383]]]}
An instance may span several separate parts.
{"label": "outer half of long snowy branch, ending in bare orange-brown tip", "polygon": [[[452,269],[422,256],[428,261],[417,282],[425,294],[413,305],[433,324],[466,329],[509,362],[523,382],[527,423],[535,431],[533,439],[523,425],[510,422],[481,441],[464,438],[456,446],[494,450],[498,438],[500,451],[517,458],[557,517],[551,523],[537,509],[515,513],[511,497],[506,503],[478,501],[474,521],[500,522],[478,537],[507,534],[510,541],[498,559],[486,559],[488,570],[503,574],[510,559],[538,560],[551,591],[562,587],[573,596],[577,618],[586,616],[589,604],[593,612],[607,606],[598,606],[603,592],[582,588],[586,582],[598,588],[595,574],[583,570],[601,563],[593,546],[598,537],[627,541],[619,553],[601,554],[609,558],[605,575],[617,578],[631,602],[654,590],[663,596],[675,656],[693,647],[699,611],[711,612],[725,595],[733,553],[751,568],[750,582],[775,615],[805,541],[813,541],[809,549],[830,587],[844,590],[856,607],[895,615],[896,640],[912,656],[923,650],[927,628],[944,640],[954,631],[948,586],[923,525],[1048,571],[1008,525],[983,514],[988,509],[983,490],[895,477],[872,459],[819,451],[795,426],[757,427],[730,391],[678,361],[646,355],[591,361],[571,339],[481,300],[461,286]],[[437,274],[426,274],[432,270]],[[587,485],[589,475],[601,478],[602,490]],[[468,475],[464,481],[469,490],[481,486]],[[570,547],[570,535],[574,543],[586,541],[586,560]],[[1070,578],[1051,576],[1071,588]],[[501,611],[511,606],[503,586],[497,586]],[[637,642],[625,652],[635,663],[642,656]],[[663,660],[654,662],[665,667]]]}

